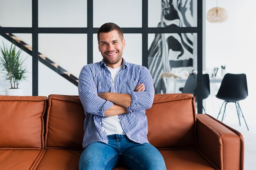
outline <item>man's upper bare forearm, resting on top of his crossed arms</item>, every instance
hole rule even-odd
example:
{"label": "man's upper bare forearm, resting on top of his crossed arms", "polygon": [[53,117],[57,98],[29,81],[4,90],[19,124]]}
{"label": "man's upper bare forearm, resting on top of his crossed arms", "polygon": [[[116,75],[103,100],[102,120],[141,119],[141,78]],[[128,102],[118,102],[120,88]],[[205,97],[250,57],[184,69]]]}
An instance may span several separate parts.
{"label": "man's upper bare forearm, resting on top of his crossed arms", "polygon": [[122,107],[130,107],[132,98],[129,94],[122,94],[122,93],[101,93],[98,94],[99,97],[109,100],[110,102],[115,103],[116,105],[122,106]]}

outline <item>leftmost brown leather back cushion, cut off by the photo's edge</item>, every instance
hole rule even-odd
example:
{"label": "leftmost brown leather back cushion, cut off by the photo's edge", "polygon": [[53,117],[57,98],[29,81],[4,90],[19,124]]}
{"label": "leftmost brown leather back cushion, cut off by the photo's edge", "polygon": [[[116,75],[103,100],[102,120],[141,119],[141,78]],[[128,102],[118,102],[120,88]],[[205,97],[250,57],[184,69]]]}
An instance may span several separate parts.
{"label": "leftmost brown leather back cushion, cut off by the photo's edge", "polygon": [[44,147],[47,97],[0,96],[0,150]]}

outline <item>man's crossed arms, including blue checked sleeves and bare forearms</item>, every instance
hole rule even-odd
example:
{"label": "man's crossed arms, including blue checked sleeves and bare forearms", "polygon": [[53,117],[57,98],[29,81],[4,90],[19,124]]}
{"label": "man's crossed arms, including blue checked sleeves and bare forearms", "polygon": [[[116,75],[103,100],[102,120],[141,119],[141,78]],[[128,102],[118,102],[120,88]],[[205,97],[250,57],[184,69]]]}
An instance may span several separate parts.
{"label": "man's crossed arms, including blue checked sleeves and bare forearms", "polygon": [[154,99],[153,79],[146,68],[142,68],[139,75],[139,83],[141,84],[128,94],[107,92],[98,96],[92,72],[94,72],[93,68],[90,65],[85,65],[79,75],[79,97],[85,113],[107,117],[134,110],[145,110],[152,106]]}

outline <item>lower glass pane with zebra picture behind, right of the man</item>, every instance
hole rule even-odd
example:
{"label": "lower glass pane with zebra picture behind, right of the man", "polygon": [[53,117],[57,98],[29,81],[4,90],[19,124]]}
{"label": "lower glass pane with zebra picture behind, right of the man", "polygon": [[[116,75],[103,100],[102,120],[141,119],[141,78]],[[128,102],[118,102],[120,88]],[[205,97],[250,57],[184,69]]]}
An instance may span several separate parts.
{"label": "lower glass pane with zebra picture behind, right of the man", "polygon": [[189,73],[197,70],[197,34],[148,34],[148,69],[156,93],[179,93],[179,85],[163,84],[163,77],[184,79],[176,81],[184,83]]}

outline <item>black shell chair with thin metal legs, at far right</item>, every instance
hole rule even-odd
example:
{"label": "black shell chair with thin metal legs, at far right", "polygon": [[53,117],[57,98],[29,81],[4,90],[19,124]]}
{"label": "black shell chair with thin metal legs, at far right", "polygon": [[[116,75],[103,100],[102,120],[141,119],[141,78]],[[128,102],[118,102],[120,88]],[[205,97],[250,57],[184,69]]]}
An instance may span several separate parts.
{"label": "black shell chair with thin metal legs, at far right", "polygon": [[[225,108],[224,108],[224,112],[223,112],[221,121],[223,121],[227,103],[234,102],[236,105],[236,112],[237,112],[237,116],[238,116],[239,125],[241,126],[238,108],[239,108],[240,112],[242,113],[244,120],[245,120],[245,117],[243,115],[243,112],[241,110],[241,107],[240,107],[238,101],[247,98],[247,96],[248,96],[248,89],[247,89],[246,75],[245,74],[230,74],[230,73],[225,74],[225,76],[222,79],[220,89],[218,90],[218,93],[216,95],[217,98],[224,100],[224,102],[222,103],[222,105],[220,107],[220,112],[223,107],[223,104],[225,103]],[[218,117],[220,116],[220,112],[218,114]],[[217,117],[217,119],[218,119],[218,117]],[[247,127],[247,130],[249,131],[246,121],[245,121],[245,125]]]}

